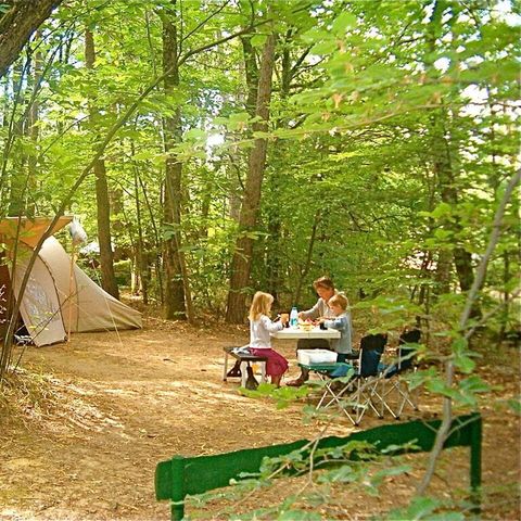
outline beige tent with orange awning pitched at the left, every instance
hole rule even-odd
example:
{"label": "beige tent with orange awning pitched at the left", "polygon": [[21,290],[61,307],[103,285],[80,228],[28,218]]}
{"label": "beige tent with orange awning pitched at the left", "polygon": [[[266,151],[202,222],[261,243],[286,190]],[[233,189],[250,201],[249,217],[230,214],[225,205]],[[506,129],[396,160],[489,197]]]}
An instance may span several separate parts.
{"label": "beige tent with orange awning pitched at the left", "polygon": [[[71,217],[62,217],[53,232],[71,220]],[[14,274],[12,263],[8,263],[9,267],[0,266],[0,301],[3,296],[4,308],[8,307],[7,290],[12,288],[15,297],[18,295],[33,249],[50,223],[51,219],[47,218],[0,220],[0,239],[7,244],[8,256],[12,258],[16,251]],[[68,331],[142,327],[141,314],[103,291],[78,266],[72,265],[69,255],[53,237],[43,242],[38,253],[22,297],[20,315],[36,345],[63,342]]]}

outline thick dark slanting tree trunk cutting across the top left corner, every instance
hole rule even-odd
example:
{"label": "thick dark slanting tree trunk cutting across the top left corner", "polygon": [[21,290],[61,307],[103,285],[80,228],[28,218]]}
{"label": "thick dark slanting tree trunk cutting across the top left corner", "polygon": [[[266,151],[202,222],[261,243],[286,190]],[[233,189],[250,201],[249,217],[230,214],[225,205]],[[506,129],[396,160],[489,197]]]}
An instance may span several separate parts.
{"label": "thick dark slanting tree trunk cutting across the top left corner", "polygon": [[[62,0],[18,0],[0,17],[0,77]],[[3,3],[3,2],[2,2]]]}

